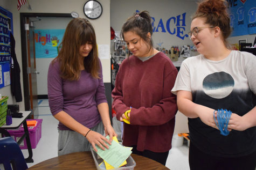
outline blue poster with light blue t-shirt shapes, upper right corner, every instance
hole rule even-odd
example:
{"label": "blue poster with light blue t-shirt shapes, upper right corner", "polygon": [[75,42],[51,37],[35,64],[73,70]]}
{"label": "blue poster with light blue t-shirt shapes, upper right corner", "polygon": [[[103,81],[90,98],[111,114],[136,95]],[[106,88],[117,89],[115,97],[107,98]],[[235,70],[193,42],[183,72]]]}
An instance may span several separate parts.
{"label": "blue poster with light blue t-shirt shapes, upper right corner", "polygon": [[233,28],[231,36],[256,34],[256,1],[230,1],[230,26]]}

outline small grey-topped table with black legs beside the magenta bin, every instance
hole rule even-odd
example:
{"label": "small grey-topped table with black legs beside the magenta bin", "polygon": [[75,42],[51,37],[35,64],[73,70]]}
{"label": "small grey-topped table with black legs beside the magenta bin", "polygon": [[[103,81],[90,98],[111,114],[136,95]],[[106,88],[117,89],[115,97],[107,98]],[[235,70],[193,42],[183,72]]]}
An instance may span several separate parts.
{"label": "small grey-topped table with black legs beside the magenta bin", "polygon": [[29,151],[29,157],[27,157],[25,160],[27,163],[28,162],[31,163],[31,162],[34,162],[32,159],[33,152],[31,149],[29,130],[27,129],[27,124],[26,124],[26,119],[30,116],[31,111],[20,111],[20,113],[22,113],[23,117],[12,118],[12,124],[2,125],[2,127],[0,127],[0,133],[3,134],[4,136],[11,136],[7,130],[8,129],[18,129],[20,127],[20,125],[23,124],[24,134],[22,135],[22,137],[20,137],[19,141],[16,141],[16,142],[18,143],[18,145],[20,145],[20,143],[22,143],[24,138],[26,138],[26,145],[27,145],[27,150]]}

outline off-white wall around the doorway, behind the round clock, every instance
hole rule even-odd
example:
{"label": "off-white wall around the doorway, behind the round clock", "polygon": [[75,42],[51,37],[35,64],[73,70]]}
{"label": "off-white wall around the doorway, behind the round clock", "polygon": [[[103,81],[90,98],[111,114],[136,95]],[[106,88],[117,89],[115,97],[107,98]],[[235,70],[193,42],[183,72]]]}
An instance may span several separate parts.
{"label": "off-white wall around the doorway, behind the round clock", "polygon": [[[103,6],[103,13],[99,19],[90,20],[95,28],[96,41],[99,45],[108,45],[110,51],[110,0],[98,0]],[[83,6],[85,0],[33,0],[29,1],[32,10],[27,9],[26,5],[23,5],[20,10],[17,10],[17,0],[1,0],[0,5],[6,10],[12,12],[13,17],[13,35],[16,40],[16,55],[17,60],[22,70],[22,49],[20,45],[20,12],[31,13],[71,13],[77,12],[80,17],[84,17]],[[110,55],[110,54],[109,54]],[[110,82],[110,59],[101,60],[103,68],[103,81],[105,83]],[[23,101],[19,103],[20,110],[24,110],[24,93],[23,93],[23,76],[20,73],[20,83],[22,85]],[[0,89],[3,95],[8,95],[8,104],[15,104],[16,102],[11,97],[10,86]]]}

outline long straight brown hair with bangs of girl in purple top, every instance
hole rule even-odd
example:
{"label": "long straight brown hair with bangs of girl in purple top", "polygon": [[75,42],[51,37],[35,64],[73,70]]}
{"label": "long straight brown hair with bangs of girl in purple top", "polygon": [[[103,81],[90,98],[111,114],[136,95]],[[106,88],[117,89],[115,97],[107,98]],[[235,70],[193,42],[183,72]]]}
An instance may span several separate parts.
{"label": "long straight brown hair with bangs of girl in purple top", "polygon": [[78,80],[81,75],[79,63],[79,49],[87,42],[92,43],[92,50],[84,58],[85,70],[92,77],[99,78],[100,63],[96,45],[96,36],[91,23],[84,18],[74,18],[68,23],[63,40],[60,43],[60,51],[53,63],[60,61],[61,77],[68,80]]}

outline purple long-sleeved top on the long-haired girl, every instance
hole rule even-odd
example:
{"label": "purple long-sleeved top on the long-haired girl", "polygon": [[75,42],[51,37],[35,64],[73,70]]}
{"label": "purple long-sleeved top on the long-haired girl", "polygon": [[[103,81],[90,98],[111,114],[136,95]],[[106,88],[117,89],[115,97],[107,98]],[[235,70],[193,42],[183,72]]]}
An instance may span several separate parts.
{"label": "purple long-sleeved top on the long-haired girl", "polygon": [[[60,77],[60,63],[51,63],[48,70],[48,98],[52,115],[60,111],[66,112],[76,121],[93,128],[101,121],[97,106],[107,102],[100,63],[99,79],[91,73],[81,71],[78,80],[65,80]],[[59,130],[71,130],[59,122]]]}

